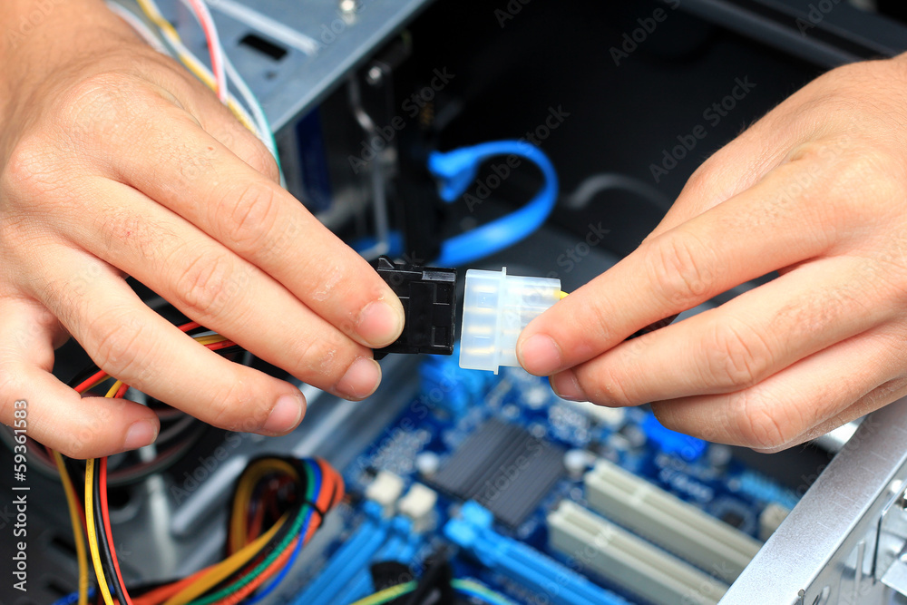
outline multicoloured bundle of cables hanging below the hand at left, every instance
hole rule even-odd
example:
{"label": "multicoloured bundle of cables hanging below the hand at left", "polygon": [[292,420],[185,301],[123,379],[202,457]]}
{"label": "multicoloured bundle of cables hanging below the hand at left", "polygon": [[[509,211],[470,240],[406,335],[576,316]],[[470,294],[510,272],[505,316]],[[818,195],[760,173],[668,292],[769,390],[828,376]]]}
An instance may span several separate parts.
{"label": "multicoloured bundle of cables hanging below the hand at left", "polygon": [[[239,350],[229,339],[194,322],[180,329],[219,353]],[[73,385],[79,393],[103,386],[108,397],[122,397],[129,389],[96,367],[86,376],[73,380]],[[48,454],[57,465],[69,504],[79,564],[77,596],[64,598],[61,603],[87,605],[89,558],[97,578],[94,593],[105,605],[255,602],[283,581],[324,515],[344,496],[339,473],[322,460],[277,457],[255,460],[240,475],[231,501],[226,558],[188,578],[141,590],[141,596],[133,599],[122,580],[113,546],[107,503],[107,459],[87,460],[83,468],[58,452],[48,450]]]}

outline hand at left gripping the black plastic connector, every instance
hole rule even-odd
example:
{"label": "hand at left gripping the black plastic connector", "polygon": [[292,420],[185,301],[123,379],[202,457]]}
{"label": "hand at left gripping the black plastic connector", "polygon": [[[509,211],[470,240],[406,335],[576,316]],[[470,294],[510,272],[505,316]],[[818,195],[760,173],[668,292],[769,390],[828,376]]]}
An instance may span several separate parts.
{"label": "hand at left gripping the black plastic connector", "polygon": [[[31,0],[3,0],[18,27]],[[5,25],[4,25],[5,26]],[[18,32],[18,30],[16,30]],[[301,380],[350,399],[403,327],[393,292],[278,186],[266,148],[97,0],[0,35],[0,420],[75,457],[150,444],[158,421],[50,374],[67,332],[103,370],[201,420],[285,434],[298,389],[210,352],[130,275]]]}

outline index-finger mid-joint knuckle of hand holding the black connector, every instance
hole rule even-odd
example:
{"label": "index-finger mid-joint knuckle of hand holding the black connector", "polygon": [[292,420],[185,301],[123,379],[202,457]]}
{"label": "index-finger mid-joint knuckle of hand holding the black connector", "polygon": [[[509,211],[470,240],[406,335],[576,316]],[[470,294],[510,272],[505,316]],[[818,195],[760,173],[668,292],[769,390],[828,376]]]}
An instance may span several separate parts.
{"label": "index-finger mid-joint knuckle of hand holding the black connector", "polygon": [[264,248],[277,222],[275,191],[266,183],[255,181],[247,184],[237,196],[228,196],[229,239],[242,252],[255,252]]}

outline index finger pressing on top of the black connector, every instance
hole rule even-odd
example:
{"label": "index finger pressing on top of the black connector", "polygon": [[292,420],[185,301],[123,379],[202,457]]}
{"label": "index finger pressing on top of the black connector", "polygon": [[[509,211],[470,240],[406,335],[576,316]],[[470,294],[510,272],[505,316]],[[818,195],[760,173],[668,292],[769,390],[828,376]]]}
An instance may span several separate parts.
{"label": "index finger pressing on top of the black connector", "polygon": [[365,259],[189,114],[163,103],[155,115],[169,127],[143,130],[141,146],[110,157],[116,176],[263,269],[360,344],[386,346],[399,336],[403,307]]}

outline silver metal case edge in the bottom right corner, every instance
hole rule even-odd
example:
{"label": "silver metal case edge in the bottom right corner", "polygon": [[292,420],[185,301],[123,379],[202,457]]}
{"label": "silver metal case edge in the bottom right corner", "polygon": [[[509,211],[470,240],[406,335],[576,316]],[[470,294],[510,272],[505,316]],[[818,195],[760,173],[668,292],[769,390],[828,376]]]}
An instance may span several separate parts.
{"label": "silver metal case edge in the bottom right corner", "polygon": [[883,511],[907,476],[904,444],[907,399],[869,415],[824,471],[816,469],[818,479],[721,605],[889,602],[873,566],[885,558],[876,547]]}

